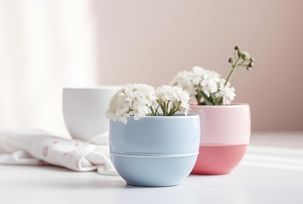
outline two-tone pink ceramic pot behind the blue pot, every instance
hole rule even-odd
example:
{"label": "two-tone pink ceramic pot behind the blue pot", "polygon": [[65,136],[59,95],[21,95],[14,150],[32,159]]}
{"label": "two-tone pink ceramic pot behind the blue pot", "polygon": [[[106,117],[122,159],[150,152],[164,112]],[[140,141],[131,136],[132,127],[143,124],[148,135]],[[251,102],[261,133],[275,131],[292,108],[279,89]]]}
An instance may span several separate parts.
{"label": "two-tone pink ceramic pot behind the blue pot", "polygon": [[200,116],[201,140],[192,174],[228,174],[244,156],[250,139],[250,107],[191,105],[190,113]]}

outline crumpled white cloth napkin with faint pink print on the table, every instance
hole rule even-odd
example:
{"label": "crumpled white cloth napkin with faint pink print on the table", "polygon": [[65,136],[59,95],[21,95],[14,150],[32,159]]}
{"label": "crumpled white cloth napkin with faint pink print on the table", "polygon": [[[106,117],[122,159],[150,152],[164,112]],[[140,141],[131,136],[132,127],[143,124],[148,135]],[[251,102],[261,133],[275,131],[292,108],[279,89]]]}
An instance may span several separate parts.
{"label": "crumpled white cloth napkin with faint pink print on the table", "polygon": [[[77,172],[97,170],[103,175],[117,175],[109,155],[108,133],[85,143],[63,139],[46,131],[0,131],[0,163],[52,164]],[[95,145],[95,144],[98,145]]]}

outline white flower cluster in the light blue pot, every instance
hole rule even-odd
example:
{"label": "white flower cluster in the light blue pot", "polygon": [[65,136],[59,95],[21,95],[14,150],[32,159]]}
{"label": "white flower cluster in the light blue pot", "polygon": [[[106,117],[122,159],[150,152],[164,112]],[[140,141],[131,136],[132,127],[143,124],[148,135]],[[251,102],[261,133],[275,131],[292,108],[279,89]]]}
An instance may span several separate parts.
{"label": "white flower cluster in the light blue pot", "polygon": [[189,93],[181,87],[162,86],[154,88],[145,84],[127,84],[110,99],[106,118],[127,123],[145,116],[173,116],[177,111],[189,109]]}

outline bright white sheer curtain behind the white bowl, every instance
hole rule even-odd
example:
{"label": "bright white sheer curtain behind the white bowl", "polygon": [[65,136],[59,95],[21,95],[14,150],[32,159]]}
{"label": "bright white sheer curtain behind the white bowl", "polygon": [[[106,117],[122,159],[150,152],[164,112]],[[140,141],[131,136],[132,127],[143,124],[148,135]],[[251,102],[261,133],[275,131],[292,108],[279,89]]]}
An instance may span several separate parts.
{"label": "bright white sheer curtain behind the white bowl", "polygon": [[0,0],[0,128],[68,135],[63,86],[98,83],[87,0]]}

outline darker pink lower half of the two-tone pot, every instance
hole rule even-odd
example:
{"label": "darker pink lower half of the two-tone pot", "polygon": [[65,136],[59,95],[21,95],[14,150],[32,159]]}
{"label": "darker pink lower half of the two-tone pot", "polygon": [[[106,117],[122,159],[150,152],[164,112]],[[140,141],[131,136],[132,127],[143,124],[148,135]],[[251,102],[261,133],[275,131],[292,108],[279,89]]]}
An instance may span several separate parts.
{"label": "darker pink lower half of the two-tone pot", "polygon": [[191,174],[228,174],[242,160],[247,145],[200,146],[197,162]]}

